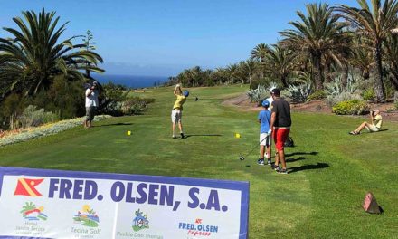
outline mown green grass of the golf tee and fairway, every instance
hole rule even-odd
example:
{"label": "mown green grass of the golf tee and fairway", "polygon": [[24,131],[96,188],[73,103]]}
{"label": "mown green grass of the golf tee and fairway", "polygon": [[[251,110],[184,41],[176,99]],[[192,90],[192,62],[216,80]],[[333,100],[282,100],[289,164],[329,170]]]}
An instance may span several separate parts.
{"label": "mown green grass of the golf tee and fairway", "polygon": [[[289,175],[278,175],[257,166],[257,150],[239,160],[259,139],[257,112],[221,102],[246,90],[192,89],[184,106],[187,139],[171,139],[175,97],[172,88],[161,88],[139,93],[156,99],[145,115],[0,148],[0,165],[249,181],[249,238],[398,237],[396,123],[384,121],[388,130],[350,136],[364,119],[293,113],[297,146],[287,148]],[[235,139],[235,132],[242,138]],[[364,212],[367,191],[383,215]]]}

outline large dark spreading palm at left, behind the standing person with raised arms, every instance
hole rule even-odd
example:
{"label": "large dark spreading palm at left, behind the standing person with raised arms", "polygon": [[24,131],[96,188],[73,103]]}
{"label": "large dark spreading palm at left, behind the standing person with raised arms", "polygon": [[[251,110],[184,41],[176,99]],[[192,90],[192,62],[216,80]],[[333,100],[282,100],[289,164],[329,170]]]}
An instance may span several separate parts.
{"label": "large dark spreading palm at left, behind the standing person with raised arms", "polygon": [[[35,94],[49,89],[54,77],[63,76],[68,81],[84,80],[80,71],[90,69],[103,72],[97,67],[102,62],[99,54],[90,52],[84,44],[73,45],[61,39],[68,23],[57,29],[59,17],[55,12],[39,15],[33,11],[23,12],[24,20],[14,17],[19,31],[4,28],[13,35],[12,39],[0,38],[0,91],[3,95],[11,92]],[[87,62],[91,62],[87,66]]]}

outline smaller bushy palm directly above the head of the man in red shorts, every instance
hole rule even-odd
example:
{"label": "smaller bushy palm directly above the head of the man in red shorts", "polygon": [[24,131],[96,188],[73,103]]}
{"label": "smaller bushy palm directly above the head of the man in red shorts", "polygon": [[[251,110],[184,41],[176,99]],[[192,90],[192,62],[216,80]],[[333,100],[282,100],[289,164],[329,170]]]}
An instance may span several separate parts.
{"label": "smaller bushy palm directly above the head of the man in red shorts", "polygon": [[274,44],[266,55],[267,70],[280,79],[284,87],[289,87],[288,77],[295,70],[295,54],[280,44]]}

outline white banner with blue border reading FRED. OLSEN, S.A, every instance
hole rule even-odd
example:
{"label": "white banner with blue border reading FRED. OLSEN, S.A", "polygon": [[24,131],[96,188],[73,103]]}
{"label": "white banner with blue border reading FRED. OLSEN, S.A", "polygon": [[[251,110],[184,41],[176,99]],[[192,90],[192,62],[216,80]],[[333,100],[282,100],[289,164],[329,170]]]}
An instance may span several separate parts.
{"label": "white banner with blue border reading FRED. OLSEN, S.A", "polygon": [[249,183],[0,167],[0,238],[248,238]]}

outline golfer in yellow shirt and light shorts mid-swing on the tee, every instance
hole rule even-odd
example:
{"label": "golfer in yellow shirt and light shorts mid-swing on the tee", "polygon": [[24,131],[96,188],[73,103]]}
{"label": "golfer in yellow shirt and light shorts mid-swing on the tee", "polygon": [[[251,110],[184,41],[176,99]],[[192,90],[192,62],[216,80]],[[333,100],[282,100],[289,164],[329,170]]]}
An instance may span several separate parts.
{"label": "golfer in yellow shirt and light shorts mid-swing on the tee", "polygon": [[177,99],[175,100],[175,104],[173,106],[173,110],[171,111],[171,121],[172,121],[172,129],[173,129],[173,139],[175,137],[175,123],[178,123],[178,128],[180,129],[181,139],[184,139],[184,132],[183,132],[183,124],[181,123],[181,118],[183,117],[183,104],[186,101],[186,98],[189,95],[189,91],[181,91],[180,84],[175,86],[174,91],[175,96]]}

